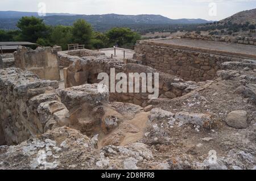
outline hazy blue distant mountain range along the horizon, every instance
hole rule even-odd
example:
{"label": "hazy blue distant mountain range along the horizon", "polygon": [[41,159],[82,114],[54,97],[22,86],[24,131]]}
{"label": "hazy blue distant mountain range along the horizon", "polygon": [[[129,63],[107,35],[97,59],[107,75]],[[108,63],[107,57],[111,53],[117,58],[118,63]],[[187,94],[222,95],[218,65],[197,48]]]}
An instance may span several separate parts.
{"label": "hazy blue distant mountain range along the horizon", "polygon": [[[14,30],[16,23],[22,16],[38,16],[37,12],[0,11],[0,29]],[[77,19],[85,19],[92,24],[96,31],[106,31],[112,27],[134,27],[151,25],[171,25],[171,24],[203,24],[212,21],[204,19],[170,19],[162,15],[75,15],[49,13],[41,17],[48,25],[71,26]]]}

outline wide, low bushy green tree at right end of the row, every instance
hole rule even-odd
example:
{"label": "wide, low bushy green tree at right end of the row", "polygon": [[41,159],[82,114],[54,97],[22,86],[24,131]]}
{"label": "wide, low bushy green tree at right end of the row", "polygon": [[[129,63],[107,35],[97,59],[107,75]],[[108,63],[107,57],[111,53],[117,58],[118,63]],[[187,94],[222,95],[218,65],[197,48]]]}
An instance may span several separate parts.
{"label": "wide, low bushy green tree at right end of the row", "polygon": [[110,45],[119,46],[135,44],[137,40],[141,39],[141,35],[137,32],[133,32],[130,28],[112,28],[106,32],[106,36],[109,38]]}

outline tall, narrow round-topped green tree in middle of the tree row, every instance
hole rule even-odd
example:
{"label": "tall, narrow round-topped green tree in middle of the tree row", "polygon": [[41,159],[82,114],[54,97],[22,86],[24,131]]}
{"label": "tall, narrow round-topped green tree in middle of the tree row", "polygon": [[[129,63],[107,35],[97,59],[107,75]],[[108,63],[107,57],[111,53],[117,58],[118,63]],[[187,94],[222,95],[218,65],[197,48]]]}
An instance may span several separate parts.
{"label": "tall, narrow round-topped green tree in middle of the tree row", "polygon": [[84,44],[86,48],[91,48],[92,26],[84,19],[78,19],[73,24],[73,43]]}

